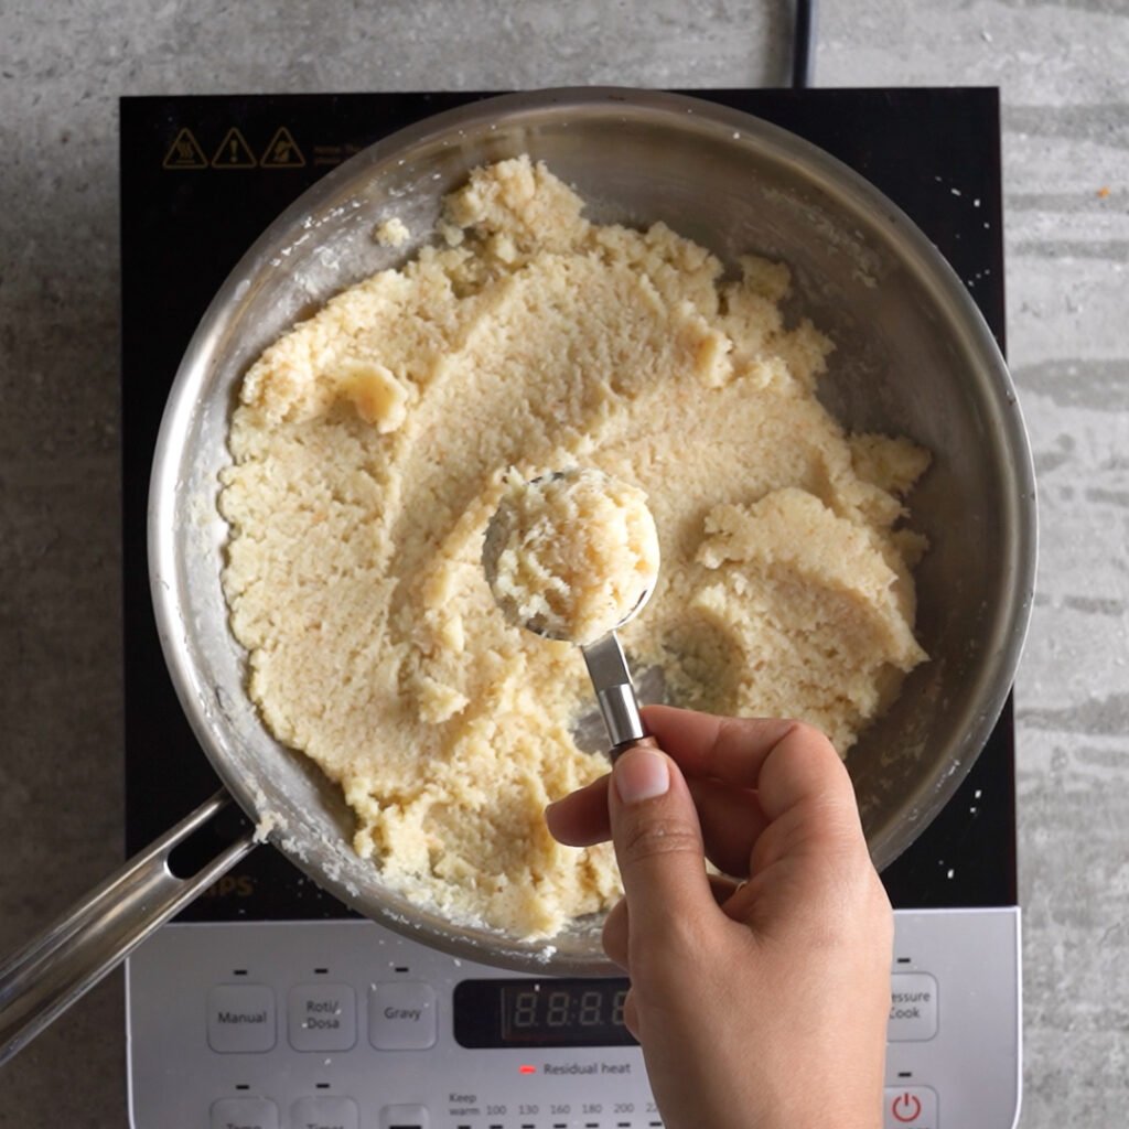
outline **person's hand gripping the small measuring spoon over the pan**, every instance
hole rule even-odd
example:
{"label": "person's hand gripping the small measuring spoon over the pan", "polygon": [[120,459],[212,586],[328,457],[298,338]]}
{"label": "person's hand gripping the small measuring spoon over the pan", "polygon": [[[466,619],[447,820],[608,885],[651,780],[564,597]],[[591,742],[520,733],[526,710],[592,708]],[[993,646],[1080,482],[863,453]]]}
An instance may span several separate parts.
{"label": "person's hand gripping the small measuring spoon over the pan", "polygon": [[893,917],[846,768],[795,721],[645,718],[662,752],[629,749],[545,816],[615,844],[604,948],[664,1124],[877,1129]]}

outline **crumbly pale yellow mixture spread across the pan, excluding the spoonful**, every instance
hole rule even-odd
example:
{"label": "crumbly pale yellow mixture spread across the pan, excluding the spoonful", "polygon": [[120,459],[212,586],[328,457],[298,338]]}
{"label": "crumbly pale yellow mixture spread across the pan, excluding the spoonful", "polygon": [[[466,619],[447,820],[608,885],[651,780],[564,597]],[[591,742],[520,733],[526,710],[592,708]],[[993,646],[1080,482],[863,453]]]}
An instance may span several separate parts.
{"label": "crumbly pale yellow mixture spread across the pan, excluding the spoonful", "polygon": [[823,409],[832,345],[786,322],[781,264],[725,274],[662,224],[592,224],[527,159],[475,170],[443,230],[248,370],[224,586],[265,724],[340,784],[382,881],[550,936],[619,894],[606,846],[542,819],[607,765],[574,738],[577,649],[508,624],[483,575],[504,469],[646,493],[663,569],[621,638],[669,700],[846,752],[926,657],[903,498],[928,456]]}

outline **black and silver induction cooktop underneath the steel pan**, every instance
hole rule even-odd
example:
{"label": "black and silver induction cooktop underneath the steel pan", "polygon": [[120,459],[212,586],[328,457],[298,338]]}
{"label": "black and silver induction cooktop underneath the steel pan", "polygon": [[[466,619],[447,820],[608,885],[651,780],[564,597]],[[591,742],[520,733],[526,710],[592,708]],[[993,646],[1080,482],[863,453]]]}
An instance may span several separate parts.
{"label": "black and silver induction cooktop underneath the steel pan", "polygon": [[[688,93],[790,130],[870,180],[942,251],[1003,348],[995,90]],[[485,96],[122,99],[130,852],[219,787],[165,672],[146,560],[154,446],[189,339],[244,251],[318,177],[420,117]],[[1009,700],[952,800],[883,874],[898,911],[887,1124],[1017,1117],[1014,732]],[[616,981],[464,968],[357,919],[270,849],[139,949],[128,989],[135,1126],[660,1123],[618,1022]],[[517,1042],[516,1017],[528,1021]]]}

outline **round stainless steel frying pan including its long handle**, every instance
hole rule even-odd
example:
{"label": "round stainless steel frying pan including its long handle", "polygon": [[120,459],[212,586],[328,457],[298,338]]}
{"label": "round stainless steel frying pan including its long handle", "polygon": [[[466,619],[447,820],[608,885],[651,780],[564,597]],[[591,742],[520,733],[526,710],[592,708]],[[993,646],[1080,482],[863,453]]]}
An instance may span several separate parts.
{"label": "round stainless steel frying pan including its long handle", "polygon": [[[441,114],[361,152],[271,225],[216,296],[169,396],[154,466],[152,596],[173,681],[228,793],[264,838],[343,902],[458,956],[539,973],[605,971],[598,924],[553,947],[466,928],[411,904],[349,847],[341,797],[263,728],[227,628],[217,475],[250,361],[330,295],[394,254],[371,238],[404,220],[423,239],[441,196],[483,161],[528,152],[601,220],[665,220],[734,262],[786,261],[797,308],[835,340],[824,395],[849,427],[909,435],[934,453],[914,524],[931,549],[918,571],[913,673],[849,765],[875,863],[894,859],[972,765],[1006,698],[1031,604],[1031,457],[1003,358],[964,287],[875,189],[759,120],[674,95],[561,90]],[[159,755],[155,751],[154,755]],[[194,878],[168,851],[213,817],[221,794],[0,970],[7,1057],[253,847],[248,834]]]}

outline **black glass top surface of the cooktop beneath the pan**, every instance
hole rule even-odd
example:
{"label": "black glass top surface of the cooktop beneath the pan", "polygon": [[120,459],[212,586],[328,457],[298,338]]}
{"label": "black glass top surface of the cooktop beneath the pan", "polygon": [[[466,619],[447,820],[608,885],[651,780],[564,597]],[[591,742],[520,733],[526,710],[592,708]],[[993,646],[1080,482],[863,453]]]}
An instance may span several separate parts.
{"label": "black glass top surface of the cooktop beneath the pan", "polygon": [[[1003,345],[995,90],[688,93],[791,130],[876,184],[918,222],[965,280]],[[305,189],[380,137],[483,96],[122,99],[125,760],[131,852],[219,787],[165,671],[146,563],[149,470],[165,397],[185,345],[244,251]],[[974,208],[973,200],[979,201]],[[1010,702],[952,802],[883,877],[900,909],[1015,903]],[[345,916],[349,910],[279,852],[264,848],[252,852],[182,919]]]}

